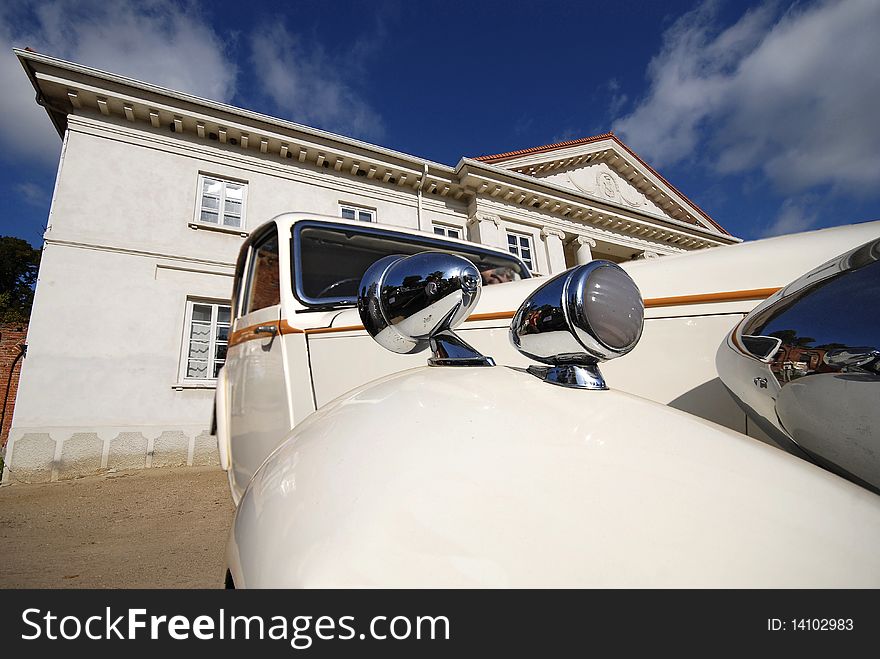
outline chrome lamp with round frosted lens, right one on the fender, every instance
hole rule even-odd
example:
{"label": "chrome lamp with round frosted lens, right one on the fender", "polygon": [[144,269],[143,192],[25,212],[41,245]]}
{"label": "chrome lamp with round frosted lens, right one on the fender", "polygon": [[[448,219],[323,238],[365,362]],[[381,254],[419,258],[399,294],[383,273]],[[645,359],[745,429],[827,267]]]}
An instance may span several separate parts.
{"label": "chrome lamp with round frosted lens, right one on the fender", "polygon": [[597,366],[625,355],[642,335],[644,304],[620,266],[593,261],[567,270],[526,299],[510,340],[526,357],[549,364],[529,372],[552,384],[607,389]]}

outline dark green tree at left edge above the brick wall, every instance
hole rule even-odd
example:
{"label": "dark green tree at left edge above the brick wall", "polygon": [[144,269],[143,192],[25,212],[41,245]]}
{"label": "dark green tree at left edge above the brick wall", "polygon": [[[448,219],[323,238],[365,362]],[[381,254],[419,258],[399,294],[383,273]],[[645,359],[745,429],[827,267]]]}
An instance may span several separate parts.
{"label": "dark green tree at left edge above the brick wall", "polygon": [[0,322],[26,322],[34,303],[40,250],[21,238],[0,236]]}

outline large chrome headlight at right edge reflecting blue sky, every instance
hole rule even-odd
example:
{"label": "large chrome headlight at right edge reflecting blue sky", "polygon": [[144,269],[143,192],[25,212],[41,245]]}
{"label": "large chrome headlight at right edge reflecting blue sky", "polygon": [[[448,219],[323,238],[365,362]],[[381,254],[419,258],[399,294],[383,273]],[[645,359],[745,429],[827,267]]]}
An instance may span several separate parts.
{"label": "large chrome headlight at right edge reflecting blue sky", "polygon": [[880,491],[880,240],[759,305],[721,346],[717,366],[780,445],[793,442]]}

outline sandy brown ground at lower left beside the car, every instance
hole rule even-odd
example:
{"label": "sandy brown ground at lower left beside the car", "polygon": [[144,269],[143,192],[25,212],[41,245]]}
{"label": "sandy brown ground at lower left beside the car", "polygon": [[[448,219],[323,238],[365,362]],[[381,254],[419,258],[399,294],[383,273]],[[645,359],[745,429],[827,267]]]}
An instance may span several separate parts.
{"label": "sandy brown ground at lower left beside the car", "polygon": [[0,488],[0,588],[219,588],[232,522],[216,467]]}

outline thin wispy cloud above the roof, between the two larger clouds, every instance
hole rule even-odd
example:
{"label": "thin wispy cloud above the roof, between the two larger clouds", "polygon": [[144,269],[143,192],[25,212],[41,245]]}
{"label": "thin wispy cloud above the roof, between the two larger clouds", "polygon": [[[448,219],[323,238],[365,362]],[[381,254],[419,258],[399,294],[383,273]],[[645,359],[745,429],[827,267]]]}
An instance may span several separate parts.
{"label": "thin wispy cloud above the roof, between the two larger clouds", "polygon": [[264,93],[279,114],[345,135],[382,139],[381,117],[348,82],[362,73],[350,62],[369,53],[370,42],[360,41],[355,52],[346,53],[351,57],[334,60],[278,21],[255,30],[250,45],[253,68],[260,72]]}

